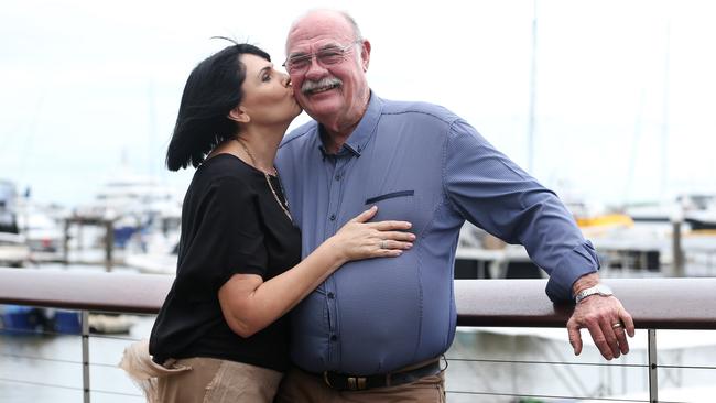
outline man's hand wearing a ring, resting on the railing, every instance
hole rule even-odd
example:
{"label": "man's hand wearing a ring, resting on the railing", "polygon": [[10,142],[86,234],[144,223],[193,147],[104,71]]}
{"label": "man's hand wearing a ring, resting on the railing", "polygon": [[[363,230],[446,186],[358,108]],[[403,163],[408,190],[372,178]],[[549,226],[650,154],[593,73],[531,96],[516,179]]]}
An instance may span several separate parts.
{"label": "man's hand wearing a ring, resting on the railing", "polygon": [[607,360],[629,352],[627,335],[634,337],[634,323],[615,296],[593,295],[575,306],[567,322],[567,331],[576,356],[582,352],[579,329],[585,327]]}

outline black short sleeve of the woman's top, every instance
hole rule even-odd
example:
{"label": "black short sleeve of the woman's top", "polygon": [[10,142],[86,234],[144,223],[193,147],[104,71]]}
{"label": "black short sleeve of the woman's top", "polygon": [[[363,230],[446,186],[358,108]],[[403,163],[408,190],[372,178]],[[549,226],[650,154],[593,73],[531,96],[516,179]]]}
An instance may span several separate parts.
{"label": "black short sleeve of the woman's top", "polygon": [[[267,273],[257,195],[241,181],[216,179],[198,205],[195,236],[177,270],[177,284],[214,295],[234,274]],[[204,293],[202,293],[204,294]]]}

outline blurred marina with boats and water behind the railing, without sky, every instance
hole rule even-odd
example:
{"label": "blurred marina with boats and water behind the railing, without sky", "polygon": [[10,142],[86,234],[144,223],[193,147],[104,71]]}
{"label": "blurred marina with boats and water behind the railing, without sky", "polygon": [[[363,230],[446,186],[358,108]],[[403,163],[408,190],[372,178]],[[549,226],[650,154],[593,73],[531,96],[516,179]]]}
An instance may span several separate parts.
{"label": "blurred marina with boats and water behind the railing, without sky", "polygon": [[[15,211],[14,216],[33,218],[14,224],[17,233],[12,225],[6,227],[13,231],[7,230],[4,239],[12,238],[24,248],[22,258],[7,265],[28,273],[161,274],[170,281],[176,266],[181,204],[161,196],[164,206],[174,207],[164,213],[159,213],[161,208],[140,209],[138,205],[153,205],[147,202],[151,197],[142,196],[135,190],[138,187],[124,184],[123,188],[132,189],[128,192],[131,197],[115,192],[112,197],[98,198],[101,204],[91,208],[70,213],[55,208],[54,216],[21,199],[17,206],[32,215]],[[131,199],[142,203],[127,202]],[[124,208],[116,207],[119,205]],[[662,217],[644,222],[615,214],[588,219],[586,215],[575,215],[575,219],[599,253],[604,277],[708,279],[716,273],[716,236],[702,228],[693,229],[685,220],[672,222]],[[133,227],[122,222],[133,222]],[[455,277],[544,279],[544,274],[522,247],[506,244],[466,225],[457,249]],[[0,305],[0,395],[9,402],[64,403],[83,399],[78,360],[83,349],[80,312]],[[117,362],[126,346],[149,336],[153,319],[152,315],[89,312],[86,320],[88,347],[93,351],[88,373],[91,401],[142,401]],[[639,330],[629,356],[607,363],[588,338],[585,352],[575,358],[564,328],[522,326],[458,329],[445,363],[451,402],[640,401],[644,395],[648,399],[647,330]],[[716,361],[713,331],[659,334],[661,357],[665,358],[660,363],[664,367],[660,374],[663,395],[676,396],[674,402],[708,401],[706,396],[714,392],[710,380]]]}

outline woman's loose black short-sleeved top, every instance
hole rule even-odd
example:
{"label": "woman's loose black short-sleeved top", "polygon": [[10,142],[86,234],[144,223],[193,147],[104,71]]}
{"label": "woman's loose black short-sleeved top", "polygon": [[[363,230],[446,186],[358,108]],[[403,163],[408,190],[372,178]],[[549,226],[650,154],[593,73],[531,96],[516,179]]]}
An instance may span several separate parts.
{"label": "woman's loose black short-sleeved top", "polygon": [[184,197],[176,279],[150,338],[154,362],[210,357],[285,371],[288,316],[242,338],[224,319],[218,291],[234,274],[268,281],[300,260],[301,233],[263,173],[230,154],[205,161]]}

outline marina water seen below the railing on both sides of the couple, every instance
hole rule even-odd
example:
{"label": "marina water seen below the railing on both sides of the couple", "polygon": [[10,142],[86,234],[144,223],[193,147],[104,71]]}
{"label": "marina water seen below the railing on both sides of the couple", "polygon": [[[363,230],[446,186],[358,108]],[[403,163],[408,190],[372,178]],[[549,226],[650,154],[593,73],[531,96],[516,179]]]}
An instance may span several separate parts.
{"label": "marina water seen below the railing on both sides of the couple", "polygon": [[[90,337],[93,402],[143,402],[117,363],[127,345],[149,336],[154,317],[132,316],[132,320],[129,335]],[[716,367],[716,338],[713,336],[716,336],[713,331],[658,331],[659,363]],[[583,337],[588,337],[586,331]],[[542,401],[564,402],[572,400],[558,396],[623,396],[647,391],[646,337],[646,331],[639,331],[631,340],[632,351],[604,367],[592,364],[606,361],[590,344],[585,345],[581,357],[574,357],[565,329],[458,329],[446,355],[449,359],[446,386],[448,391],[468,393],[451,393],[448,401],[516,402],[516,397],[495,394],[522,394],[557,396]],[[0,334],[0,402],[82,402],[80,342],[79,336],[69,335]],[[495,362],[498,360],[527,362]],[[662,368],[659,385],[660,391],[666,391],[706,386],[714,380],[716,370],[713,369]],[[706,393],[696,397],[679,394],[681,397],[675,400],[710,401]]]}

